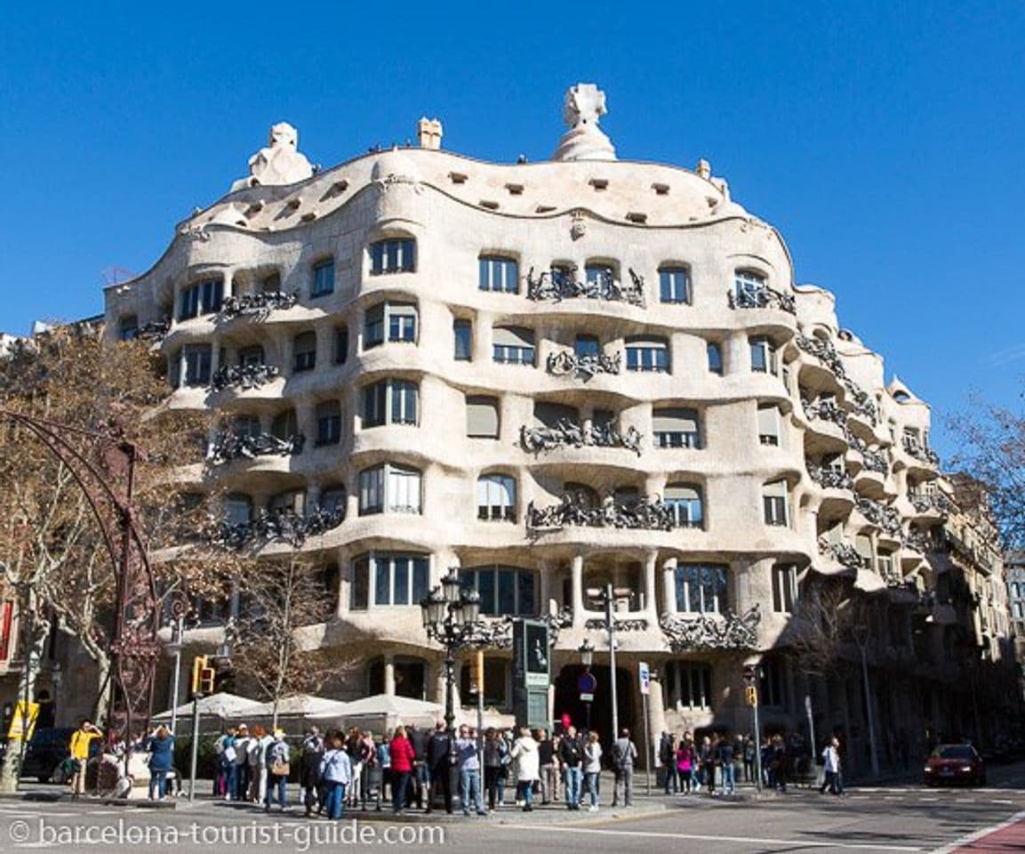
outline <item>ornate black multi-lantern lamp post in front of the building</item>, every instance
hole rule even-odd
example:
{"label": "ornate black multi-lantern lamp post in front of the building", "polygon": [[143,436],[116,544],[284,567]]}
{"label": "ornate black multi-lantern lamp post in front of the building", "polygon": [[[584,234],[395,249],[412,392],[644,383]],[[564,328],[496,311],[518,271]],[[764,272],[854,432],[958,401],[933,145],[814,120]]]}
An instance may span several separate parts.
{"label": "ornate black multi-lantern lamp post in front of the building", "polygon": [[420,602],[420,610],[427,637],[445,647],[445,728],[449,735],[449,754],[454,760],[455,654],[468,647],[497,646],[498,637],[492,626],[480,619],[481,595],[462,586],[455,567],[449,569],[441,584]]}

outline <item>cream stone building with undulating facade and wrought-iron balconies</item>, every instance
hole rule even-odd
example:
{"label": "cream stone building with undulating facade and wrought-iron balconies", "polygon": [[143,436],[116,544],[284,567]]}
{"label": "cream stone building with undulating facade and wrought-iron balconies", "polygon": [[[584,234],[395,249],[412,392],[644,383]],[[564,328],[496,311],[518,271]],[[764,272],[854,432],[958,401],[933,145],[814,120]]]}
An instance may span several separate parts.
{"label": "cream stone building with undulating facade and wrought-iron balconies", "polygon": [[[319,568],[318,643],[358,636],[366,658],[343,699],[444,701],[419,603],[454,567],[485,618],[558,632],[556,720],[584,723],[589,640],[590,724],[611,727],[611,584],[639,735],[641,661],[655,736],[750,731],[756,663],[768,731],[807,740],[810,708],[861,762],[862,653],[881,762],[978,731],[958,662],[984,639],[930,560],[952,491],[929,407],[707,162],[618,160],[605,112],[571,88],[538,163],[449,153],[421,120],[416,147],[318,170],[275,125],[248,177],[107,290],[112,337],[156,336],[171,404],[219,415],[196,487],[224,489],[220,544]],[[200,616],[186,643],[212,650],[227,615]],[[507,650],[485,682],[511,722]]]}

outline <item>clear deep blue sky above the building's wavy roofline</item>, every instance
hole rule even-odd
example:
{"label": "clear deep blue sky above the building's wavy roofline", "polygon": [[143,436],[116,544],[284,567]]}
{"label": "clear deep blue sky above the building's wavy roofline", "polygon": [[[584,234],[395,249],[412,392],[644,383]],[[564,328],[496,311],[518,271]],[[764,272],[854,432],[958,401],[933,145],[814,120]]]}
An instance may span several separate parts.
{"label": "clear deep blue sky above the building's wavy roofline", "polygon": [[538,160],[596,81],[621,158],[708,158],[937,421],[1019,401],[1025,3],[28,6],[0,29],[0,330],[100,312],[275,121],[324,166],[422,114]]}

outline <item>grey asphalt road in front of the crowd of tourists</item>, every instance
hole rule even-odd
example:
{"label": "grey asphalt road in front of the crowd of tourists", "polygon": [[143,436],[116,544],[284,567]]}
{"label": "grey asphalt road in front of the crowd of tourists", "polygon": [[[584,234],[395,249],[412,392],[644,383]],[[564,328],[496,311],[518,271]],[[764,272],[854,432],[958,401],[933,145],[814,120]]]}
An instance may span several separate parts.
{"label": "grey asphalt road in front of the crowd of tourists", "polygon": [[[295,811],[261,810],[215,802],[149,810],[95,802],[3,800],[0,851],[227,852],[326,851],[339,847],[414,845],[453,852],[520,854],[701,854],[808,851],[946,852],[1025,850],[1025,764],[990,769],[979,789],[917,785],[851,789],[844,798],[815,790],[755,800],[707,796],[639,798],[631,810],[597,814],[549,807],[525,814],[512,808],[488,818],[428,823],[405,820],[306,821]],[[375,816],[371,814],[370,818]],[[1000,836],[986,833],[1003,824]],[[971,837],[981,837],[972,841]],[[387,837],[387,838],[385,838]],[[362,840],[362,844],[360,844]],[[988,846],[988,848],[987,848]]]}

